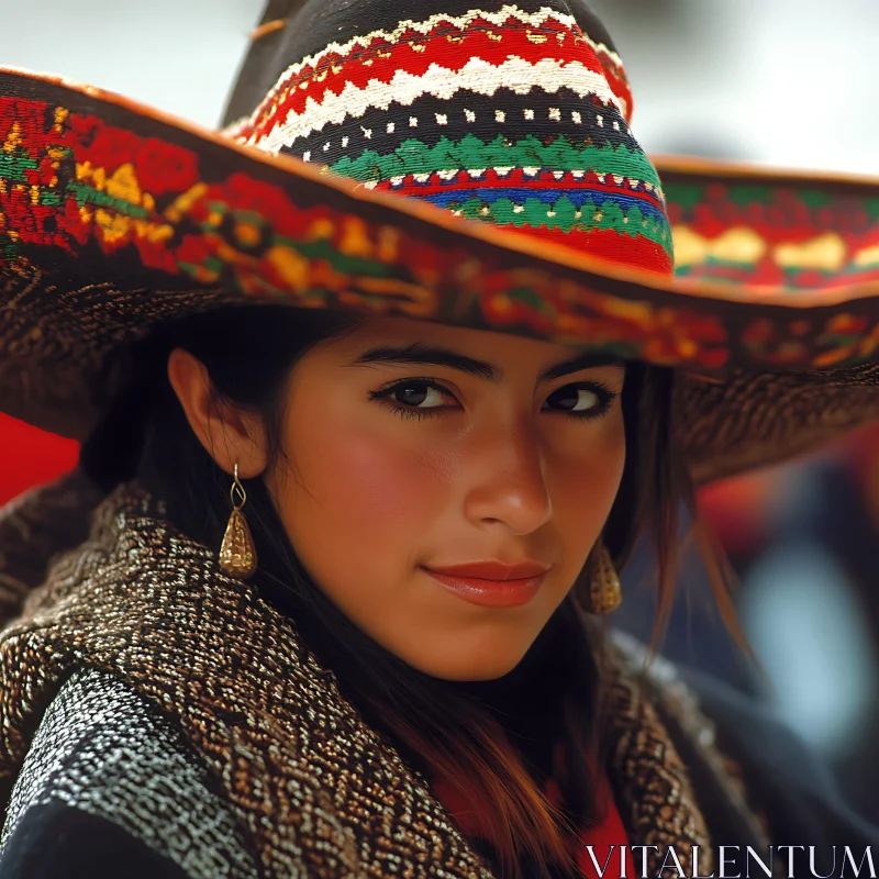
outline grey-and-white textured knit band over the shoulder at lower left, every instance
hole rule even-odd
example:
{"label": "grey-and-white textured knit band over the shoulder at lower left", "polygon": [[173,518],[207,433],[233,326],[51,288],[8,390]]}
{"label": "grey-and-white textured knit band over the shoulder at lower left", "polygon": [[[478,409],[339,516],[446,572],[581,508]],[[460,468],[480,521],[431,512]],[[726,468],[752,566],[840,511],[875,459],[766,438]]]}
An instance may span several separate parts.
{"label": "grey-and-white textured knit band over the shoulder at lower left", "polygon": [[192,879],[257,876],[207,766],[166,716],[104,671],[75,672],[44,715],[0,847],[27,810],[54,804],[116,824]]}

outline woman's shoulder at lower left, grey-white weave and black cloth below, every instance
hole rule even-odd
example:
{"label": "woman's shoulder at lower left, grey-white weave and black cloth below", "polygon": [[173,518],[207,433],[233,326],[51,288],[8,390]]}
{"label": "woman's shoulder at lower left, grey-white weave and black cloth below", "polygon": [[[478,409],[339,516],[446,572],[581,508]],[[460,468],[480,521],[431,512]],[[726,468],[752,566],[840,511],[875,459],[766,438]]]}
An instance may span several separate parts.
{"label": "woman's shoulder at lower left, grey-white weave and black cloth below", "polygon": [[0,874],[102,870],[257,876],[234,814],[177,727],[113,675],[86,668],[59,690],[34,736],[0,835]]}

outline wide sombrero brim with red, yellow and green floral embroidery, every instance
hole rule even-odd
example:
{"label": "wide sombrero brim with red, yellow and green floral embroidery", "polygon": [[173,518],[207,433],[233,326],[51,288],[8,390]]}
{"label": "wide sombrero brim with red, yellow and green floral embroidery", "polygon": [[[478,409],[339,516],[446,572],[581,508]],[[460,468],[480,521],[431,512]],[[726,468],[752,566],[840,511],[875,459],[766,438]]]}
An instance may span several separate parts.
{"label": "wide sombrero brim with red, yellow and green floral embroidery", "polygon": [[156,324],[283,303],[680,368],[700,481],[879,419],[879,180],[657,166],[674,277],[0,68],[0,404],[84,438],[125,380],[122,354]]}

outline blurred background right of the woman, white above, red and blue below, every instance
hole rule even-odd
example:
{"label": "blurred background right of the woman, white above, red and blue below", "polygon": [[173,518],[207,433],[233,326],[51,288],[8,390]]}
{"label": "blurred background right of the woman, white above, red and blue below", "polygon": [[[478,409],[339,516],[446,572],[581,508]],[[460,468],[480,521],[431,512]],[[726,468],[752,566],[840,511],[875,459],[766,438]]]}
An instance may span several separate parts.
{"label": "blurred background right of the woman, white above, red and blue below", "polygon": [[[879,175],[876,0],[588,0],[608,25],[654,154]],[[879,425],[711,486],[700,511],[741,586],[748,665],[690,559],[664,653],[763,698],[879,822]],[[615,622],[647,639],[650,558]]]}

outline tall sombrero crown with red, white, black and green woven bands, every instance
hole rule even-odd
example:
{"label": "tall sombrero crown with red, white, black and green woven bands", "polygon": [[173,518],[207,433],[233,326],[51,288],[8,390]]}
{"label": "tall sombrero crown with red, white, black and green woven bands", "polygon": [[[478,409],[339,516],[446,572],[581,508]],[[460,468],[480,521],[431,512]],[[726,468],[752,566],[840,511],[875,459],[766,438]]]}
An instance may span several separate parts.
{"label": "tall sombrero crown with red, white, black and green woven bands", "polygon": [[260,69],[245,67],[233,104],[265,97],[227,133],[368,189],[670,274],[659,178],[598,19],[577,0],[436,5],[307,3]]}

